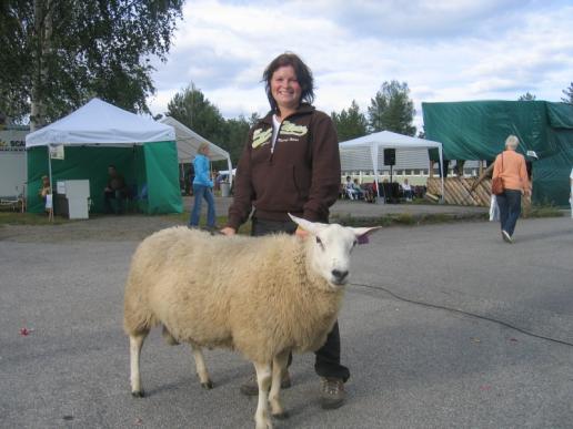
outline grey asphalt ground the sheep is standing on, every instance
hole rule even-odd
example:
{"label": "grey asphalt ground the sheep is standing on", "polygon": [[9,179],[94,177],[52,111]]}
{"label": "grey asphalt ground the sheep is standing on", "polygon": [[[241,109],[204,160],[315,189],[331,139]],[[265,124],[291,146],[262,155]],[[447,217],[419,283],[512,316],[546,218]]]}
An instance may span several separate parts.
{"label": "grey asphalt ground the sheep is standing on", "polygon": [[[249,362],[207,351],[205,391],[189,347],[159,331],[142,354],[149,396],[131,397],[122,302],[137,236],[23,234],[0,236],[1,427],[254,426],[257,400],[239,392]],[[515,238],[459,222],[359,246],[340,315],[348,402],[322,410],[313,356],[295,356],[275,428],[570,428],[573,222],[520,221]]]}

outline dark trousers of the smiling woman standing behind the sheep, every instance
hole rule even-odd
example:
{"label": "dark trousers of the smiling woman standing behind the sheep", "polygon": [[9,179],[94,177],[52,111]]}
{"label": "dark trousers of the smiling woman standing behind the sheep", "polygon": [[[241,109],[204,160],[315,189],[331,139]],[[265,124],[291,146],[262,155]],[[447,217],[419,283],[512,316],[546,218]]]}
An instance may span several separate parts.
{"label": "dark trousers of the smiling woman standing behind the sheep", "polygon": [[[260,237],[277,233],[294,234],[295,231],[296,224],[291,221],[278,222],[253,218],[251,235]],[[315,351],[315,356],[314,370],[319,376],[339,378],[344,380],[344,382],[350,378],[350,370],[340,364],[340,333],[338,320],[329,333],[326,343]],[[289,365],[291,361],[292,355],[289,356]]]}

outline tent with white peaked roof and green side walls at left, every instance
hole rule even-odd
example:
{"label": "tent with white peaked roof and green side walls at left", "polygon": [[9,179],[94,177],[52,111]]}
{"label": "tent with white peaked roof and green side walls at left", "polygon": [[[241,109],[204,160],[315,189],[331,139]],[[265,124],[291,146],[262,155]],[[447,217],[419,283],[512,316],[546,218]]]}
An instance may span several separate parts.
{"label": "tent with white peaked roof and green side walls at left", "polygon": [[[99,99],[26,137],[28,211],[43,212],[38,196],[42,175],[57,181],[89,180],[92,212],[103,212],[108,165],[125,177],[142,213],[181,213],[178,152],[172,126],[121,110]],[[48,156],[63,145],[63,160]],[[142,191],[145,191],[142,193]]]}

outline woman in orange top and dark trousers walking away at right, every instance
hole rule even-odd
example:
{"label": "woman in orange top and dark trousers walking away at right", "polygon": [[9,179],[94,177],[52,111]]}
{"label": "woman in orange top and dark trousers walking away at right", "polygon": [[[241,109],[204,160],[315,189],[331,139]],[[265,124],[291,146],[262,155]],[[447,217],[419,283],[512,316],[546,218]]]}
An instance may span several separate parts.
{"label": "woman in orange top and dark trousers walking away at right", "polygon": [[502,238],[513,243],[513,232],[521,213],[521,195],[530,194],[530,181],[525,167],[525,159],[515,152],[520,141],[515,135],[505,140],[505,151],[495,157],[493,178],[501,177],[503,193],[496,196],[500,206]]}

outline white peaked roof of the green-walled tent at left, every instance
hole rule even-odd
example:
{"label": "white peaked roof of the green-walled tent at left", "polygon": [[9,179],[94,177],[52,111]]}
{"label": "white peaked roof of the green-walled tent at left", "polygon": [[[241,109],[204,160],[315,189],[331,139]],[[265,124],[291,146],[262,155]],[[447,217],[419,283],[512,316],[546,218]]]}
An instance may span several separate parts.
{"label": "white peaked roof of the green-walled tent at left", "polygon": [[175,140],[172,126],[124,111],[100,99],[26,136],[26,147],[49,144],[123,145]]}

